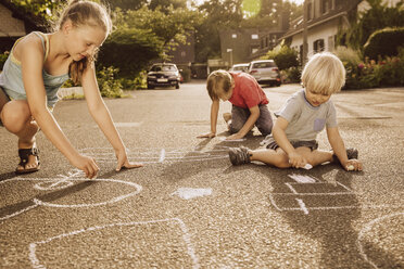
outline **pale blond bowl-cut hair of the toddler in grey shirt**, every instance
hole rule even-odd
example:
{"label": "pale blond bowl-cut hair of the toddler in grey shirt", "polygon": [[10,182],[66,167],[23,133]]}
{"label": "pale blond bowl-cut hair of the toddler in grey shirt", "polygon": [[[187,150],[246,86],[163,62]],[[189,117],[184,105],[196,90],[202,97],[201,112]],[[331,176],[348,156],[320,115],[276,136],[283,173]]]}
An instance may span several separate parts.
{"label": "pale blond bowl-cut hair of the toddler in grey shirt", "polygon": [[307,90],[330,95],[345,84],[345,68],[341,60],[330,52],[314,54],[302,72],[302,84]]}

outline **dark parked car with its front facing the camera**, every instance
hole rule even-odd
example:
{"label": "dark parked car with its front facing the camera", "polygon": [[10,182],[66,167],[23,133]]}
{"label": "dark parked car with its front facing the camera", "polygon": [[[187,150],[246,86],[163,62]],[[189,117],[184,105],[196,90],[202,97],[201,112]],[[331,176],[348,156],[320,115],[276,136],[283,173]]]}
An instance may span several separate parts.
{"label": "dark parked car with its front facing the camera", "polygon": [[175,87],[179,89],[181,75],[175,64],[157,63],[153,64],[148,73],[148,89],[154,87]]}

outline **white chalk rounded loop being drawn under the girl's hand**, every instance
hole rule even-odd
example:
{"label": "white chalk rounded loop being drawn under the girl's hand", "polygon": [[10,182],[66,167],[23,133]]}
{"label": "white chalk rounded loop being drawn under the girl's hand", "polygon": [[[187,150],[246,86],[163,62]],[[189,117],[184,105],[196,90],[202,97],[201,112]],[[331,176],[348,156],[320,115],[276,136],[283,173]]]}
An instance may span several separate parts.
{"label": "white chalk rounded loop being drawn under the girl's hand", "polygon": [[114,184],[119,183],[119,184],[125,185],[125,190],[131,190],[131,191],[129,193],[115,196],[115,197],[113,197],[109,201],[103,201],[103,202],[99,202],[99,203],[55,204],[55,203],[45,202],[45,201],[41,201],[41,200],[35,197],[35,198],[31,200],[33,205],[30,205],[30,206],[28,206],[28,207],[26,207],[22,210],[15,212],[13,214],[3,216],[3,217],[0,218],[0,220],[5,220],[5,219],[9,219],[9,218],[15,217],[15,216],[17,216],[22,213],[25,213],[27,210],[30,210],[30,209],[37,207],[39,205],[49,206],[49,207],[61,207],[61,208],[68,208],[68,207],[78,208],[78,207],[94,207],[94,206],[102,206],[102,205],[113,204],[113,203],[119,202],[122,200],[135,196],[136,194],[138,194],[142,190],[141,185],[139,185],[137,183],[134,183],[134,182],[123,181],[123,180],[118,180],[118,179],[102,179],[102,178],[87,179],[87,178],[81,178],[80,176],[84,176],[84,174],[81,171],[76,170],[76,171],[70,172],[67,177],[62,176],[62,178],[12,178],[12,179],[7,179],[7,180],[3,180],[3,181],[0,181],[0,184],[5,184],[8,182],[14,182],[14,181],[25,181],[25,182],[34,181],[34,182],[36,182],[34,184],[34,189],[36,189],[36,190],[55,191],[55,190],[66,189],[66,188],[71,187],[71,185],[73,185],[74,183],[77,183],[77,182],[86,182],[86,181],[96,182],[96,181],[98,181],[98,182],[109,182],[109,183],[114,183]]}

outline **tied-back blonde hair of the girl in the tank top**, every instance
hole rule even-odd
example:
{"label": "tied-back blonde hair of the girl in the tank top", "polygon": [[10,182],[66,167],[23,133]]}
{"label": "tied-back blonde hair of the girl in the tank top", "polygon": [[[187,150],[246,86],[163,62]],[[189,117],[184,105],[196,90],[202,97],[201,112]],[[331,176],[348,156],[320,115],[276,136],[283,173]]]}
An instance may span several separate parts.
{"label": "tied-back blonde hair of the girl in the tank top", "polygon": [[[61,29],[64,23],[70,20],[75,27],[94,26],[101,27],[106,36],[112,31],[112,22],[108,9],[92,1],[72,0],[62,12],[56,25]],[[75,85],[81,81],[83,72],[88,64],[96,61],[97,52],[89,59],[84,57],[80,61],[73,61],[68,66],[70,76]]]}

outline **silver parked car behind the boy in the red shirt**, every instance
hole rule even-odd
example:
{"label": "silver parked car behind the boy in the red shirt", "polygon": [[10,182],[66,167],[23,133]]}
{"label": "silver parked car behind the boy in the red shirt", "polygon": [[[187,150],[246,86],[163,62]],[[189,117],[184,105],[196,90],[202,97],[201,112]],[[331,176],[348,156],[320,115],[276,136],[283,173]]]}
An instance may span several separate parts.
{"label": "silver parked car behind the boy in the red shirt", "polygon": [[280,73],[274,60],[252,61],[248,73],[253,76],[258,84],[280,86]]}

